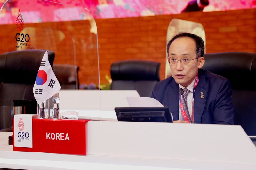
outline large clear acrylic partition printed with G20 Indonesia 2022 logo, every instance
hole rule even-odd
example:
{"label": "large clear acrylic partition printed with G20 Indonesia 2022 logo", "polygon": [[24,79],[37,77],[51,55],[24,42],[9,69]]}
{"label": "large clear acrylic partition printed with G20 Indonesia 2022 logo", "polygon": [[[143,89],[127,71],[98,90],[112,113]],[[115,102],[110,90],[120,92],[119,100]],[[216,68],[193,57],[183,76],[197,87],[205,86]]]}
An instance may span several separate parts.
{"label": "large clear acrylic partition printed with G20 Indonesia 2022 logo", "polygon": [[[53,71],[60,83],[60,91],[73,90],[79,95],[79,86],[83,91],[93,91],[93,96],[97,98],[94,104],[100,110],[97,26],[90,11],[80,6],[45,0],[29,1],[29,3],[23,0],[7,0],[0,5],[2,6],[0,39],[5,42],[0,46],[0,55],[11,51],[53,51],[55,54]],[[17,64],[18,62],[17,60]],[[0,72],[1,74],[3,73]],[[36,79],[36,77],[31,79]],[[82,100],[87,96],[80,97],[69,96],[65,100],[70,103],[81,102],[83,104],[83,101],[76,100]],[[60,93],[60,110],[61,99]],[[50,101],[52,103],[52,100]],[[12,102],[2,101],[1,103],[12,108],[11,104],[4,104]],[[86,105],[85,102],[84,105]],[[12,115],[7,114],[9,117],[6,118],[6,114],[3,115],[4,109],[6,109],[5,106],[0,110],[2,112],[0,113],[2,124],[0,128],[2,129],[4,129],[3,124],[5,129],[12,126],[9,121]]]}

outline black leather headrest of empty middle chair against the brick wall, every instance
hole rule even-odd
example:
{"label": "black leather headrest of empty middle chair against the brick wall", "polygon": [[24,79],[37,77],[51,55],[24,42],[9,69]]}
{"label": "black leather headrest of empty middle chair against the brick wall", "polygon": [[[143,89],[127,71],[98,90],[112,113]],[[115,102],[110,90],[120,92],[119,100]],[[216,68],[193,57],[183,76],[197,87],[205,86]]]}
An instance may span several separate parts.
{"label": "black leather headrest of empty middle chair against the brick wall", "polygon": [[112,80],[157,80],[160,63],[142,60],[125,60],[112,63]]}

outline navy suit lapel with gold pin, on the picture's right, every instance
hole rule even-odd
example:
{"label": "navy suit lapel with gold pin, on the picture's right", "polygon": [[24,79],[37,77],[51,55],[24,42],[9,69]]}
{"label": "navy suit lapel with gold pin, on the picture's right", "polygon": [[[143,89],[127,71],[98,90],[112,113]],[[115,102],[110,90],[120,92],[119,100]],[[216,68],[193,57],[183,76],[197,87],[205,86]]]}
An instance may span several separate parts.
{"label": "navy suit lapel with gold pin, on the picture's right", "polygon": [[[202,123],[202,114],[207,99],[208,88],[206,85],[205,75],[198,71],[199,83],[194,94],[194,123]],[[201,92],[203,93],[201,96]]]}

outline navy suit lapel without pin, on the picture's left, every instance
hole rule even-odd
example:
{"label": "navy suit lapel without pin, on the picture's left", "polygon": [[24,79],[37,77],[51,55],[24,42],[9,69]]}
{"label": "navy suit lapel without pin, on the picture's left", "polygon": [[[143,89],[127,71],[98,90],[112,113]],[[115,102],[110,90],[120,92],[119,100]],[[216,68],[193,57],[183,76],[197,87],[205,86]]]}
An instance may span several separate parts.
{"label": "navy suit lapel without pin, on the picture's left", "polygon": [[168,103],[172,112],[173,120],[179,120],[179,85],[172,78],[168,90]]}

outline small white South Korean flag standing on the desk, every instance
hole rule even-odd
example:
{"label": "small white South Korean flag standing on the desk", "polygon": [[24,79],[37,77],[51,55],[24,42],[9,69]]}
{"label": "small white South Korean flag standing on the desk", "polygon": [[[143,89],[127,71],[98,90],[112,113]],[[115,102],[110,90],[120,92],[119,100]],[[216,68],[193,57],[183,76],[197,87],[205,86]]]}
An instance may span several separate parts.
{"label": "small white South Korean flag standing on the desk", "polygon": [[33,93],[37,103],[49,99],[60,90],[60,83],[52,71],[52,67],[48,61],[48,51],[45,52],[40,64],[36,82],[34,84]]}

